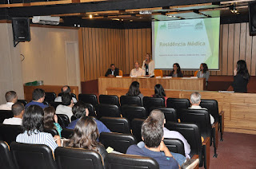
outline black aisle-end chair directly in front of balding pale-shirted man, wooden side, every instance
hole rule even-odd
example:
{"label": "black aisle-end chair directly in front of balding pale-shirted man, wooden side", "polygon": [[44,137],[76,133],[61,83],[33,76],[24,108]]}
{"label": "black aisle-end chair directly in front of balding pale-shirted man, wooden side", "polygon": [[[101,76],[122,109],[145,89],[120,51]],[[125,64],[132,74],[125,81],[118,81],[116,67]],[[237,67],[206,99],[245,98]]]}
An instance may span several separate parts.
{"label": "black aisle-end chair directly in front of balding pale-shirted man, wooden side", "polygon": [[199,167],[204,165],[205,168],[210,166],[210,137],[206,137],[202,142],[201,133],[197,124],[176,123],[168,121],[165,127],[172,131],[177,131],[185,137],[190,144],[190,155],[199,156]]}

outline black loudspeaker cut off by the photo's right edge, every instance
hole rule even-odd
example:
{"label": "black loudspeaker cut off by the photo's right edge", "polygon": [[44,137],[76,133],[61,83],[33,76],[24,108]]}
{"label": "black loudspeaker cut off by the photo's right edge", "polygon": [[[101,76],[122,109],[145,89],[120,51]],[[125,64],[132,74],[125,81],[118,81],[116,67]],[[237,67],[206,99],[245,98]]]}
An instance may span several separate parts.
{"label": "black loudspeaker cut off by the photo's right edge", "polygon": [[249,3],[250,36],[256,35],[256,2]]}

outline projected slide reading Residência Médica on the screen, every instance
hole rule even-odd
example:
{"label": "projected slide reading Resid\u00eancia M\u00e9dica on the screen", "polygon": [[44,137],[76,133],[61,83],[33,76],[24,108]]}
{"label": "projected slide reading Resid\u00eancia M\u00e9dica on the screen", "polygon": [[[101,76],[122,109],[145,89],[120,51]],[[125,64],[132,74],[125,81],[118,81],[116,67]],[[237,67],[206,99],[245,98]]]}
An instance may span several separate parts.
{"label": "projected slide reading Resid\u00eancia M\u00e9dica on the screen", "polygon": [[155,69],[218,69],[219,18],[152,22]]}

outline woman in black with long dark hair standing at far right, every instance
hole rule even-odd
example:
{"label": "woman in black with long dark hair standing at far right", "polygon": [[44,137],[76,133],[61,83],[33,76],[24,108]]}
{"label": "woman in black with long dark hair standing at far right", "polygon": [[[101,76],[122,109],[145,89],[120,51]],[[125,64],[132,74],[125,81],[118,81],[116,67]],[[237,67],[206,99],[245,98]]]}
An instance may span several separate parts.
{"label": "woman in black with long dark hair standing at far right", "polygon": [[247,92],[249,79],[250,74],[248,73],[246,61],[238,61],[237,67],[234,69],[234,82],[232,84],[234,92]]}

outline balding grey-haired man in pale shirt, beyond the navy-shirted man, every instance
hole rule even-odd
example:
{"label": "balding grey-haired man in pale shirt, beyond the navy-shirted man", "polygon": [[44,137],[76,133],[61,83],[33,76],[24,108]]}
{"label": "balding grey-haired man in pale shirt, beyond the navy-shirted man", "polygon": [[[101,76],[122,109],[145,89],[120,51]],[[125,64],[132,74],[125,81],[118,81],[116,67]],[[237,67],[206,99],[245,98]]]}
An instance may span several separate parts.
{"label": "balding grey-haired man in pale shirt, beyond the navy-shirted man", "polygon": [[[166,124],[166,119],[165,119],[165,115],[163,112],[161,112],[160,110],[153,110],[150,112],[150,117],[154,118],[155,120],[158,120],[158,122],[160,124],[162,124],[163,127],[163,137],[166,139],[178,139],[181,140],[184,144],[184,149],[185,149],[185,155],[186,158],[190,159],[190,144],[187,143],[187,140],[184,138],[184,136],[182,136],[181,133],[176,132],[176,131],[170,131],[167,128],[164,127],[164,124]],[[171,152],[172,154],[172,152]]]}

